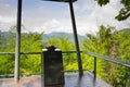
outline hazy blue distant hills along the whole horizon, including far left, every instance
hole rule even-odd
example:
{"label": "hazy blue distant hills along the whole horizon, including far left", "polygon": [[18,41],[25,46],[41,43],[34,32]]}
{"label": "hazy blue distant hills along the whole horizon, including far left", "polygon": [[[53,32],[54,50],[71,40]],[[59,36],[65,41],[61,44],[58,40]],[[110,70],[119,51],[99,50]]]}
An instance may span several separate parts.
{"label": "hazy blue distant hills along the whole horizon, including far left", "polygon": [[[34,34],[37,34],[37,33],[34,33]],[[15,38],[15,33],[2,32],[0,34],[0,36],[2,37],[2,39],[8,38],[8,37]],[[51,39],[51,38],[57,38],[57,37],[65,37],[70,42],[75,42],[74,34],[73,33],[55,33],[55,32],[54,33],[50,33],[50,34],[43,34],[42,35],[42,42],[48,42],[49,39]],[[84,39],[87,39],[86,36],[78,35],[79,42],[82,42]]]}

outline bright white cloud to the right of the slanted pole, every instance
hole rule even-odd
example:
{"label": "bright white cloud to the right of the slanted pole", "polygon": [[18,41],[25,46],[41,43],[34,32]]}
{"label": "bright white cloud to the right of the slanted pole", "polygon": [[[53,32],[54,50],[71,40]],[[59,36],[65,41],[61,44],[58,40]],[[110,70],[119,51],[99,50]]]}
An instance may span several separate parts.
{"label": "bright white cloud to the right of the slanted pole", "polygon": [[[130,27],[128,24],[130,18],[118,22],[115,16],[118,14],[122,5],[118,0],[110,0],[110,3],[104,7],[99,7],[94,1],[83,0],[82,4],[78,4],[77,10],[77,26],[80,34],[96,33],[100,25],[115,26],[117,29]],[[82,13],[78,15],[78,12]],[[84,11],[90,11],[89,14],[84,14]]]}

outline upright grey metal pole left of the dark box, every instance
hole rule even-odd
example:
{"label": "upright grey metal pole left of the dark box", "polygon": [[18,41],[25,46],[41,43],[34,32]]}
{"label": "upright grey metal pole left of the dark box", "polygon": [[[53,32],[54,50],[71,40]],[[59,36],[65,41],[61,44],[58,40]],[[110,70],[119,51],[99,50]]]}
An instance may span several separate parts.
{"label": "upright grey metal pole left of the dark box", "polygon": [[15,72],[14,72],[14,80],[16,82],[20,79],[21,23],[22,23],[22,0],[17,0],[17,28],[16,28]]}

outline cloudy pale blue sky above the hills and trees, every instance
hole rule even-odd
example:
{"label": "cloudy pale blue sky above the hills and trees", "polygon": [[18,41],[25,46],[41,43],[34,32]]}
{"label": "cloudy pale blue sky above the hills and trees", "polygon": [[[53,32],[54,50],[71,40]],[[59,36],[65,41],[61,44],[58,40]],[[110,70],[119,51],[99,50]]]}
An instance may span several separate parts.
{"label": "cloudy pale blue sky above the hills and trees", "polygon": [[[100,7],[95,0],[74,2],[74,12],[79,35],[95,34],[100,25],[115,26],[116,29],[130,27],[130,17],[118,22],[115,16],[122,5],[119,0],[110,0]],[[23,0],[22,32],[73,33],[69,4],[42,0]],[[16,25],[17,0],[0,0],[0,30],[8,32]]]}

